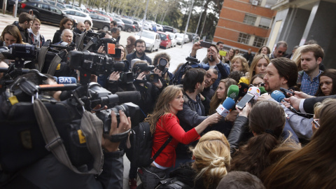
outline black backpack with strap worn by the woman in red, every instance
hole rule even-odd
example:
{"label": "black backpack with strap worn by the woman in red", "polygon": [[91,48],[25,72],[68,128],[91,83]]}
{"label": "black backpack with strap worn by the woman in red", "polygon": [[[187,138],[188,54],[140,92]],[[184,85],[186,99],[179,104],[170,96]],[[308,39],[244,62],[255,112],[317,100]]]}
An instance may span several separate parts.
{"label": "black backpack with strap worn by the woman in red", "polygon": [[132,160],[130,161],[132,164],[137,165],[137,167],[148,167],[158,158],[159,154],[170,141],[172,141],[172,137],[169,137],[167,141],[165,141],[165,144],[163,144],[152,157],[153,136],[151,134],[151,125],[148,122],[139,123],[139,125],[132,130]]}

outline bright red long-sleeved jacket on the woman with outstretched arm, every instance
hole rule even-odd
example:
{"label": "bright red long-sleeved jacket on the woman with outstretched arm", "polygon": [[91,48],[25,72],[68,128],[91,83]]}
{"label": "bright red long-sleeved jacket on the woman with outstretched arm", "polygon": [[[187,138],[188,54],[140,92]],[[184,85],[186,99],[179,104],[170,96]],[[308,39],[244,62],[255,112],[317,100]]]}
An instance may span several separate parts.
{"label": "bright red long-sleeved jacket on the woman with outstretched arm", "polygon": [[172,113],[166,113],[161,116],[156,123],[156,129],[153,138],[152,157],[161,148],[165,141],[172,136],[172,141],[160,153],[155,162],[163,167],[172,167],[175,165],[176,152],[175,148],[180,142],[190,144],[190,142],[200,139],[200,134],[197,134],[195,128],[185,132],[180,125],[180,120]]}

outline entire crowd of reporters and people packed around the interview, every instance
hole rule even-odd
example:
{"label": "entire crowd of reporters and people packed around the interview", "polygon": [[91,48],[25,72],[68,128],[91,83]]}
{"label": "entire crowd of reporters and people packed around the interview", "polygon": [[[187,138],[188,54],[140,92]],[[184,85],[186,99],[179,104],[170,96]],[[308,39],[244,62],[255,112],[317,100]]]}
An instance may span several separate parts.
{"label": "entire crowd of reporters and people packed around the interview", "polygon": [[[127,38],[127,44],[119,44],[120,29],[115,24],[111,22],[111,31],[99,32],[104,33],[104,38],[114,38],[116,48],[121,51],[114,61],[127,62],[125,65],[130,66],[134,78],[126,81],[122,71],[111,71],[91,81],[113,94],[140,93],[137,105],[141,109],[141,122],[151,125],[152,155],[172,137],[148,167],[137,167],[130,158],[130,170],[125,172],[129,172],[131,189],[336,187],[333,144],[336,127],[332,120],[336,113],[336,84],[333,84],[336,70],[325,69],[324,51],[316,41],[296,46],[290,55],[286,54],[286,41],[279,41],[273,52],[262,46],[255,55],[251,49],[240,55],[239,50],[231,48],[225,51],[225,56],[219,52],[224,50],[224,43],[218,41],[207,48],[202,66],[183,63],[171,73],[170,55],[160,52],[151,59],[145,53],[145,41],[133,36]],[[1,45],[28,43],[41,47],[45,38],[39,33],[40,25],[37,18],[20,14],[18,22],[2,31]],[[72,27],[73,21],[64,18],[52,43],[71,45],[78,43],[80,34],[92,32],[89,20],[78,23],[73,30]],[[200,41],[195,42],[186,56],[195,58],[201,48]],[[105,54],[104,46],[96,53]],[[1,67],[10,66],[10,59],[2,57],[2,61]],[[38,76],[35,73],[26,77]],[[51,81],[41,83],[41,79],[35,79],[40,82],[36,85],[55,83],[52,76],[46,76]],[[177,82],[176,77],[180,77]],[[227,116],[221,116],[218,106],[229,98],[232,85],[239,86],[240,98],[236,102],[244,97],[248,87],[265,92],[256,101],[246,103],[244,109],[230,109]],[[286,97],[278,101],[273,94],[281,90],[285,90]],[[52,93],[52,97],[59,99],[56,94],[59,95]],[[130,128],[130,118],[123,111],[119,113],[118,122],[116,113],[111,113],[111,136]],[[124,141],[101,138],[102,174],[76,174],[50,154],[1,185],[3,188],[22,188],[23,184],[31,188],[122,188],[122,157],[124,152],[131,153],[129,146]],[[137,186],[138,175],[140,186]],[[63,178],[66,178],[64,187]]]}

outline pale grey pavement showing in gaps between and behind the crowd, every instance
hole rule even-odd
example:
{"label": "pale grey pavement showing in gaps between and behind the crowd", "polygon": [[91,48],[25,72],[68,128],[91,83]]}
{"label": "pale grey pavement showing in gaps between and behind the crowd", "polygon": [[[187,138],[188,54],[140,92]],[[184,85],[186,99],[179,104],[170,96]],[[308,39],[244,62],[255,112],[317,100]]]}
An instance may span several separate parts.
{"label": "pale grey pavement showing in gaps between and behind the crowd", "polygon": [[[3,31],[3,29],[6,27],[6,25],[12,24],[14,21],[18,20],[18,18],[13,18],[11,15],[3,15],[0,13],[0,32]],[[59,29],[56,25],[49,25],[43,23],[41,25],[41,34],[45,37],[45,39],[52,39],[52,37],[55,34],[55,31]],[[121,38],[120,38],[120,44],[126,45],[126,38],[130,35],[135,35],[134,32],[128,33],[126,31],[121,32]],[[180,45],[177,45],[175,48],[169,48],[167,50],[161,49],[158,50],[158,52],[146,52],[146,55],[148,57],[151,57],[152,59],[155,57],[156,54],[160,52],[167,52],[171,57],[170,61],[170,67],[169,71],[174,71],[176,67],[180,63],[186,62],[186,57],[190,55],[191,48],[193,46],[193,43],[186,43],[183,45],[183,48],[181,48]],[[197,58],[202,61],[202,59],[207,55],[207,49],[200,49],[197,52]],[[126,155],[124,156],[124,189],[128,189],[128,172],[130,170],[130,161],[127,159]]]}

